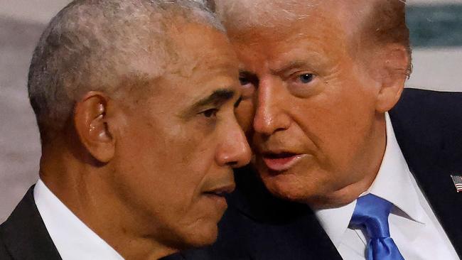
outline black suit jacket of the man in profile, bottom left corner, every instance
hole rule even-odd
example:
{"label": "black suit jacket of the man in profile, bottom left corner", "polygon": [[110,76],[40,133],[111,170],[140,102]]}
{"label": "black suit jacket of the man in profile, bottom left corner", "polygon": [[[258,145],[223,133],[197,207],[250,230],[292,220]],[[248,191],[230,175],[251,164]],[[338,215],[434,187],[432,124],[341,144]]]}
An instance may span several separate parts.
{"label": "black suit jacket of the man in profile, bottom left corner", "polygon": [[1,224],[0,236],[14,259],[60,260],[33,199],[33,187],[11,216]]}

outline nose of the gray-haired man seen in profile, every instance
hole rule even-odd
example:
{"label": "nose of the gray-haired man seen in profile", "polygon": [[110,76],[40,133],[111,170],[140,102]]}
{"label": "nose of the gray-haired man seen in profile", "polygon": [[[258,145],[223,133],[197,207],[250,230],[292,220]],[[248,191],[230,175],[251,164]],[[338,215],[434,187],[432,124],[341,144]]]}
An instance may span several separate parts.
{"label": "nose of the gray-haired man seen in profile", "polygon": [[220,143],[216,154],[216,159],[220,166],[227,165],[239,168],[250,162],[252,152],[244,131],[242,131],[236,120],[233,120],[230,127],[225,129],[223,139],[224,141]]}

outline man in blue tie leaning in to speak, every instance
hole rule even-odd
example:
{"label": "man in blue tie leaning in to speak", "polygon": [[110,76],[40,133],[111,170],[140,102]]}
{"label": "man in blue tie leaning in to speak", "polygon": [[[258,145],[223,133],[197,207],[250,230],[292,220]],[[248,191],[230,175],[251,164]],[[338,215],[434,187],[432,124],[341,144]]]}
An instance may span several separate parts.
{"label": "man in blue tie leaning in to speak", "polygon": [[404,90],[405,2],[217,10],[243,63],[237,116],[255,160],[217,243],[187,258],[459,259],[462,94]]}

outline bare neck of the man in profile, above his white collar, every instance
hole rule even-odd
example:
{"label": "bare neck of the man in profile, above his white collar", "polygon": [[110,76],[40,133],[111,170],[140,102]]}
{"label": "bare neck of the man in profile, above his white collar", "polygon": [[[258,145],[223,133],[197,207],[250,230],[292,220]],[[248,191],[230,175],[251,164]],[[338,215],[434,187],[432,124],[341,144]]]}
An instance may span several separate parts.
{"label": "bare neck of the man in profile, above his white collar", "polygon": [[[51,158],[48,160],[48,158]],[[40,176],[50,191],[95,234],[125,259],[159,259],[176,250],[145,236],[154,223],[146,222],[124,205],[107,185],[110,170],[81,163],[67,151],[47,151]],[[140,232],[138,232],[140,231]]]}

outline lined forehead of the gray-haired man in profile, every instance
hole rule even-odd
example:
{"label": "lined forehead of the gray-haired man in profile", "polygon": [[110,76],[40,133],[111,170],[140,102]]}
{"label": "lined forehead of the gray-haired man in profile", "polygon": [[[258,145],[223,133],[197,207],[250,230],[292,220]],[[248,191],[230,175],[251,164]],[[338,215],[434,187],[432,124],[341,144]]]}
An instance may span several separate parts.
{"label": "lined forehead of the gray-haired man in profile", "polygon": [[[144,46],[149,53],[158,55],[145,57],[134,53],[132,57],[141,98],[183,94],[183,98],[192,99],[213,87],[238,86],[239,62],[224,32],[208,24],[180,19],[168,24],[163,36],[163,45]],[[159,63],[162,70],[156,75],[153,67]]]}

